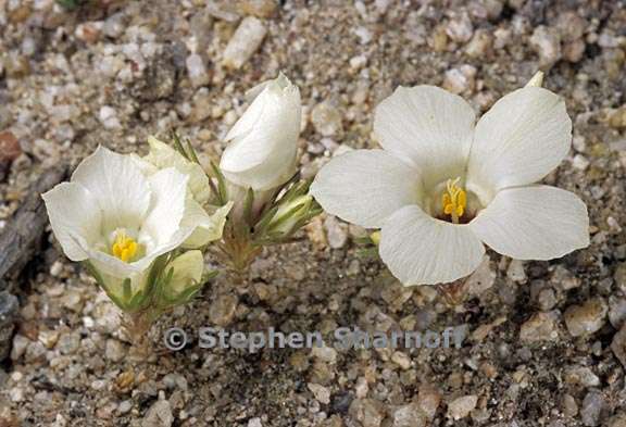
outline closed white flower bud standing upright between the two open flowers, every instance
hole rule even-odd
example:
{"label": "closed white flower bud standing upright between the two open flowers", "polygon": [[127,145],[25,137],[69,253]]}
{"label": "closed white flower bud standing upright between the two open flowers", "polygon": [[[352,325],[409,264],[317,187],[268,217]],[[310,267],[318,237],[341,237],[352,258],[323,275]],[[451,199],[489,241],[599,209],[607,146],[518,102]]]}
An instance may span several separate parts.
{"label": "closed white flower bud standing upright between the two open flowers", "polygon": [[[261,89],[262,88],[262,89]],[[274,189],[297,171],[300,91],[283,74],[252,89],[256,96],[226,135],[220,168],[230,183],[254,191]]]}

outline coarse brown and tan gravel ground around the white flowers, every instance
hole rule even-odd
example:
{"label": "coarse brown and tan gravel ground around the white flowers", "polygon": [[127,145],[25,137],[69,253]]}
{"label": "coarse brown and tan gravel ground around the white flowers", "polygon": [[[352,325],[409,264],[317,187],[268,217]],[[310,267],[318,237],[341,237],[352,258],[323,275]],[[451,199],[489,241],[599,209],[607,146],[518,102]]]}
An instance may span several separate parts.
{"label": "coarse brown and tan gravel ground around the white flowers", "polygon": [[[66,2],[70,3],[70,2]],[[121,318],[50,238],[10,285],[20,302],[0,369],[0,425],[581,427],[625,425],[626,14],[616,1],[0,0],[0,230],[28,186],[99,145],[147,151],[174,127],[202,162],[283,71],[304,104],[301,166],[378,148],[374,106],[399,85],[445,86],[483,113],[538,68],[573,121],[544,178],[588,205],[591,244],[550,262],[488,251],[465,286],[403,288],[316,218],[222,275],[150,331]],[[211,260],[212,262],[212,260]],[[200,349],[163,331],[443,330],[461,349]],[[87,424],[86,424],[87,423]]]}

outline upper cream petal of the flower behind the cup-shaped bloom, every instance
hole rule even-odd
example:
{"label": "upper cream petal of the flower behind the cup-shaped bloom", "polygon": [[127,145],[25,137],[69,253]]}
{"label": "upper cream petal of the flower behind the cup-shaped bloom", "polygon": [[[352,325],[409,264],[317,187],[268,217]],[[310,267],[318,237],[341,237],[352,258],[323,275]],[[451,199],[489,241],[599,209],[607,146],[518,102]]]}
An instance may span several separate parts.
{"label": "upper cream petal of the flower behind the cup-shaped bloom", "polygon": [[188,161],[178,151],[154,137],[149,137],[148,143],[150,145],[150,152],[143,158],[145,161],[159,168],[176,167],[176,171],[181,174],[189,175],[189,189],[196,201],[204,203],[209,200],[211,188],[209,177],[202,166]]}

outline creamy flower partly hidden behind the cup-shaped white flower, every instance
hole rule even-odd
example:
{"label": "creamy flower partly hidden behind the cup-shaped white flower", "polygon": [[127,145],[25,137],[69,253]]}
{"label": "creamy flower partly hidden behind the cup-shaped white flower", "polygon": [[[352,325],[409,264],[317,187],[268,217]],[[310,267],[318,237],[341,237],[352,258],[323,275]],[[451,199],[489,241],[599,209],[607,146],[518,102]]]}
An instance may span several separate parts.
{"label": "creamy flower partly hidden behind the cup-shaped white flower", "polygon": [[172,147],[154,137],[148,138],[150,152],[143,158],[130,154],[143,175],[150,176],[167,167],[174,167],[179,173],[189,177],[189,194],[186,199],[187,215],[183,218],[181,226],[195,226],[196,229],[181,244],[183,248],[200,248],[222,237],[222,230],[226,223],[226,215],[233,203],[227,203],[217,210],[212,210],[210,216],[203,205],[211,196],[209,177],[202,166],[190,162]]}

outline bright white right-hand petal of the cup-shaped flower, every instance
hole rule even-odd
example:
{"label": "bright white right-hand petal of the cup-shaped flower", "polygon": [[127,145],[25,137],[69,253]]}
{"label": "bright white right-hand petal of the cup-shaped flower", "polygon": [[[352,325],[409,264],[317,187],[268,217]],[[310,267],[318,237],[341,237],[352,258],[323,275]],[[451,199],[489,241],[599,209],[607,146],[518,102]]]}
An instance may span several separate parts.
{"label": "bright white right-hand petal of the cup-shaped flower", "polygon": [[149,253],[167,244],[180,229],[187,199],[187,181],[188,176],[174,167],[161,169],[149,177],[152,200],[140,233],[140,239],[141,235],[147,234],[154,243],[154,248],[147,249]]}

